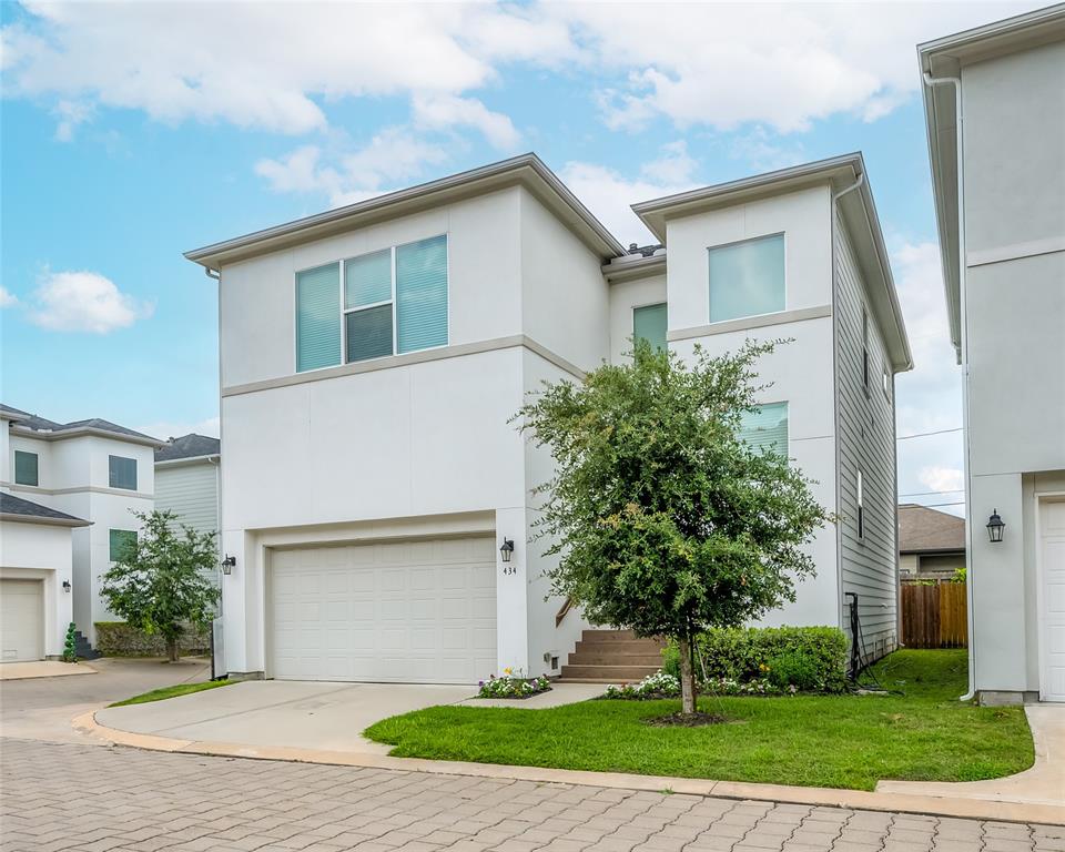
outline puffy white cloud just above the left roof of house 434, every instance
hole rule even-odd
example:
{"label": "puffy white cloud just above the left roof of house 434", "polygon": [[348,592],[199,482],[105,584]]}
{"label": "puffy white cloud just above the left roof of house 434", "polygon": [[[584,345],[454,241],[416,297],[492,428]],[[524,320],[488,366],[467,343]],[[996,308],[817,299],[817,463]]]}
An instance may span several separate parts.
{"label": "puffy white cloud just above the left roof of house 434", "polygon": [[386,128],[363,148],[334,156],[335,164],[325,159],[317,145],[304,145],[277,160],[260,160],[255,172],[275,192],[324,193],[337,207],[410,183],[446,152],[403,128]]}

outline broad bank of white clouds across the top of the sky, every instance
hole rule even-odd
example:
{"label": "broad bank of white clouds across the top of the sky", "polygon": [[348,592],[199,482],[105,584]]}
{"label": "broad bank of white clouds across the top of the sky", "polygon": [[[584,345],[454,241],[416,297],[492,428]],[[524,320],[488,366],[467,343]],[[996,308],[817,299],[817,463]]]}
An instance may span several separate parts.
{"label": "broad bank of white clouds across the top of the sky", "polygon": [[[803,130],[875,120],[919,85],[919,41],[1038,3],[24,3],[2,30],[7,95],[300,134],[347,98],[402,97],[434,128],[517,138],[471,97],[501,70],[571,73],[608,126]],[[77,104],[77,106],[74,106]],[[64,111],[73,111],[73,120]]]}

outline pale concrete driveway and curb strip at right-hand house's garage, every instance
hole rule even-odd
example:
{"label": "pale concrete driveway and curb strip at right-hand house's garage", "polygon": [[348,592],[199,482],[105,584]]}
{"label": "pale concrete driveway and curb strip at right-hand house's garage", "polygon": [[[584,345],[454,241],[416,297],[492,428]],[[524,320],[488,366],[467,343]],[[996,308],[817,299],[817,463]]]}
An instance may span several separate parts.
{"label": "pale concrete driveway and curb strip at right-hand house's garage", "polygon": [[1065,704],[1030,704],[1024,712],[1035,741],[1032,769],[990,781],[881,781],[876,791],[1065,808]]}

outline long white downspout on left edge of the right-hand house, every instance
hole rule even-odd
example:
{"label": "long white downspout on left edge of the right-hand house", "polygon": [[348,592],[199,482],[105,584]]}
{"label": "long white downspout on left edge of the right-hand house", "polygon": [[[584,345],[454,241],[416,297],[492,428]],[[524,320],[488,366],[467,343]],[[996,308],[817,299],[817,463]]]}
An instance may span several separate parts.
{"label": "long white downspout on left edge of the right-hand house", "polygon": [[968,455],[968,314],[966,312],[967,301],[967,274],[965,258],[965,115],[962,109],[962,78],[961,77],[932,77],[927,71],[924,72],[924,83],[927,87],[953,85],[954,87],[954,135],[956,138],[957,153],[957,310],[961,314],[958,331],[961,333],[961,361],[962,361],[962,435],[964,435],[964,453],[962,464],[965,467],[965,552],[967,554],[968,572],[965,578],[966,606],[968,608],[968,692],[961,696],[962,701],[971,701],[976,697],[976,630],[974,620],[973,599],[976,586],[976,572],[973,570],[973,525],[971,523],[973,515],[972,506],[972,481]]}

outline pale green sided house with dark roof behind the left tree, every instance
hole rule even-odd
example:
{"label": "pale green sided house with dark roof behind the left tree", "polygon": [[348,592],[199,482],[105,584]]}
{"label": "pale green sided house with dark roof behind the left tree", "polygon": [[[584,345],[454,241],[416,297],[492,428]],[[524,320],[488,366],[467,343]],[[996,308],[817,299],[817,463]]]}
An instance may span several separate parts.
{"label": "pale green sided house with dark roof behind the left tree", "polygon": [[170,438],[155,450],[155,508],[197,532],[216,534],[222,443],[205,435]]}

